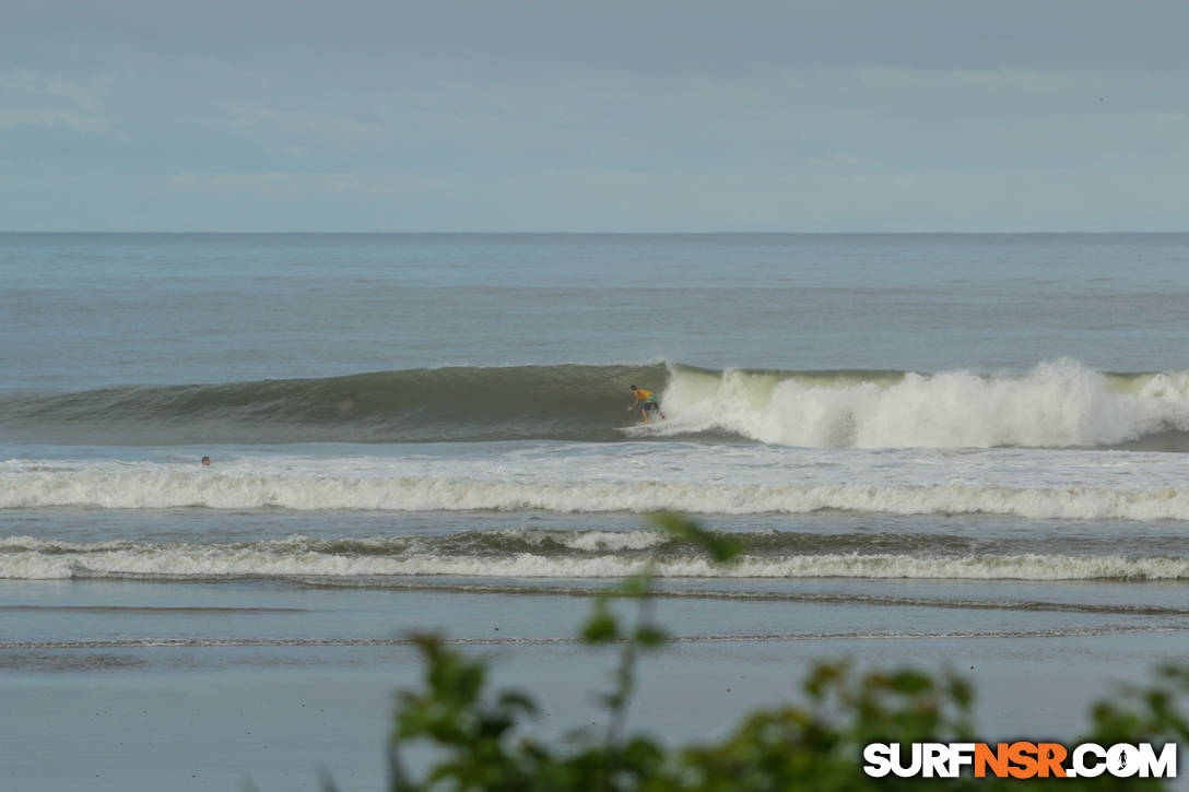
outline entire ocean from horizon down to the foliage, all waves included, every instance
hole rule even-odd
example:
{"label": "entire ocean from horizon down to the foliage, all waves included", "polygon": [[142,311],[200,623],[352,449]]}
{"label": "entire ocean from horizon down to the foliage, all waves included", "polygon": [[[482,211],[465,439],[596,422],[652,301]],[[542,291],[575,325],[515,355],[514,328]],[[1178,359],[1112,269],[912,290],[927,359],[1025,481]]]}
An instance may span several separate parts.
{"label": "entire ocean from horizon down to the foliage, all waves included", "polygon": [[[411,631],[682,742],[813,659],[1067,736],[1189,650],[1189,234],[0,234],[0,779],[384,784]],[[665,420],[640,426],[629,385]],[[200,464],[209,457],[208,466]],[[730,567],[658,533],[674,510]]]}

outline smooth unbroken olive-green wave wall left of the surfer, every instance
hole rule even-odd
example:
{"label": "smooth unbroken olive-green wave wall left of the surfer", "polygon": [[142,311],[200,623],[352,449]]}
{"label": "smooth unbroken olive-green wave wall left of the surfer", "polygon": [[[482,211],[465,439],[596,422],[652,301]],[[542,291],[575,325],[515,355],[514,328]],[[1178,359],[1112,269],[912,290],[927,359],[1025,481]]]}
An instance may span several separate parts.
{"label": "smooth unbroken olive-green wave wall left of the surfer", "polygon": [[665,365],[382,371],[0,398],[0,438],[70,445],[617,440]]}

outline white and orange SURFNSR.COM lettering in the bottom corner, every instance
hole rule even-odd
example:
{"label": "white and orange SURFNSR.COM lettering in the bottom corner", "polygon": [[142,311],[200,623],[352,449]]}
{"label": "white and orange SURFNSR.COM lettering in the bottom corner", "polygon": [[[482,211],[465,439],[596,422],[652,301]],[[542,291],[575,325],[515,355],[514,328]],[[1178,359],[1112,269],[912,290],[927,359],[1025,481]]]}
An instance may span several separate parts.
{"label": "white and orange SURFNSR.COM lettering in the bottom corner", "polygon": [[967,767],[975,778],[1176,778],[1177,744],[1100,746],[1083,742],[1071,750],[1056,742],[873,742],[863,748],[863,772],[872,778],[957,778]]}

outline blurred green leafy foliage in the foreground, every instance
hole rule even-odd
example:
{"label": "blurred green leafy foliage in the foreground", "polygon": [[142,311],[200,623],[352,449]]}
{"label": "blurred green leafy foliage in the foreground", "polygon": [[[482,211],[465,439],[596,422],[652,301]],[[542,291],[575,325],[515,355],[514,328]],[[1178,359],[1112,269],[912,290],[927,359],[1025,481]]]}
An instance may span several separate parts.
{"label": "blurred green leafy foliage in the foreground", "polygon": [[[716,562],[738,554],[729,539],[677,515],[654,522],[702,547]],[[424,661],[420,690],[400,693],[390,743],[392,792],[767,792],[804,790],[1163,790],[1166,781],[1144,778],[974,778],[969,767],[958,779],[869,778],[863,747],[872,742],[976,742],[974,691],[949,673],[912,668],[858,673],[849,662],[822,662],[801,684],[804,703],[748,715],[728,736],[706,744],[668,747],[644,735],[627,735],[628,704],[635,689],[638,655],[662,646],[665,634],[652,614],[650,567],[594,602],[581,627],[589,643],[619,645],[612,690],[602,697],[608,710],[605,734],[575,731],[554,743],[530,736],[527,724],[537,711],[521,691],[487,691],[487,666],[420,636]],[[614,601],[637,604],[635,623],[624,624]],[[622,610],[622,609],[621,609]],[[1189,724],[1177,700],[1189,690],[1189,668],[1164,667],[1147,687],[1120,690],[1114,700],[1093,706],[1084,733],[1064,741],[1095,742],[1189,740]],[[400,749],[432,747],[428,769],[410,778]],[[327,782],[327,788],[333,785]]]}

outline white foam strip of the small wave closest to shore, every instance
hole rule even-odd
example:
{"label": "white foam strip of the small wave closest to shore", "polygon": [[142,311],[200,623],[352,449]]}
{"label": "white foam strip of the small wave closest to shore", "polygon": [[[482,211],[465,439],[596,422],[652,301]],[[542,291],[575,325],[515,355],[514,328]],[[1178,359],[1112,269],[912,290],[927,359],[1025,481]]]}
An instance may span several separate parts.
{"label": "white foam strip of the small wave closest to shore", "polygon": [[[301,577],[463,576],[484,578],[619,578],[643,561],[602,555],[443,554],[426,548],[391,554],[323,552],[320,542],[292,538],[249,545],[134,545],[119,548],[78,543],[5,540],[0,578],[70,577]],[[1184,558],[1122,555],[965,555],[927,558],[900,554],[743,557],[718,566],[697,557],[661,558],[654,573],[667,578],[917,578],[1174,580],[1189,578]]]}

